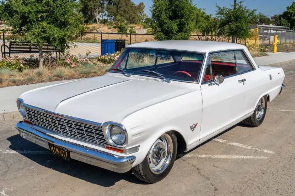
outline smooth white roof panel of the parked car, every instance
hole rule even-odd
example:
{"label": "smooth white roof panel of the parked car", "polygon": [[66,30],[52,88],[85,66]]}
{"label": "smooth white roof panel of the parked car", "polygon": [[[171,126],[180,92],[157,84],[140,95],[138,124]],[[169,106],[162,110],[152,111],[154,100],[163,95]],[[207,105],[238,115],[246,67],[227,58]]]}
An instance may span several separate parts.
{"label": "smooth white roof panel of the parked car", "polygon": [[169,49],[183,50],[192,52],[209,53],[212,51],[246,49],[244,45],[237,43],[215,42],[215,41],[194,41],[194,40],[169,40],[169,41],[154,41],[134,43],[127,48],[154,48],[154,49]]}

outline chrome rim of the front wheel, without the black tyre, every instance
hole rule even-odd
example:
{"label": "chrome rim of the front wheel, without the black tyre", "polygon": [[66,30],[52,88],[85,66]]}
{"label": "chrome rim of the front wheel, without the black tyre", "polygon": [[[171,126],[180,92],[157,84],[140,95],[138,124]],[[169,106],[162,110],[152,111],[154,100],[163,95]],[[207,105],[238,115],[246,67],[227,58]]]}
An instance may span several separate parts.
{"label": "chrome rim of the front wheel, without the black tyre", "polygon": [[171,137],[164,133],[154,143],[148,154],[148,166],[151,172],[160,174],[168,167],[173,153]]}

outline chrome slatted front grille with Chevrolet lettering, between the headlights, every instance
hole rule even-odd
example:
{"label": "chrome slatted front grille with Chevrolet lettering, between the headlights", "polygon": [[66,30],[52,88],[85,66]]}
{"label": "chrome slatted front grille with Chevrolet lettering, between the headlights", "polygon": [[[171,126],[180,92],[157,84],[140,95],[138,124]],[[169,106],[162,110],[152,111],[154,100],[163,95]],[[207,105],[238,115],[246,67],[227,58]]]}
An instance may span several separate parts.
{"label": "chrome slatted front grille with Chevrolet lettering, between the headlights", "polygon": [[32,123],[65,136],[78,138],[84,141],[110,145],[104,136],[101,127],[72,121],[65,118],[58,118],[49,114],[25,107],[26,118]]}

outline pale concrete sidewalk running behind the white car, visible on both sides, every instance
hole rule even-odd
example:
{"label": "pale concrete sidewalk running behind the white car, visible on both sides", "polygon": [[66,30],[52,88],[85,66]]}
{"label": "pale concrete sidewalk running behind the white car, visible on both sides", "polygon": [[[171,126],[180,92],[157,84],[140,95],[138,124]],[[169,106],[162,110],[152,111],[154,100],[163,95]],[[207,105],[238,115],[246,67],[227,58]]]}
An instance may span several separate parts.
{"label": "pale concrete sidewalk running behind the white car, visible on both sides", "polygon": [[[286,61],[295,60],[295,52],[276,54],[270,53],[269,56],[256,57],[254,58],[254,60],[257,65],[261,66],[282,63]],[[57,83],[63,83],[67,81],[71,80],[0,88],[0,115],[1,113],[12,113],[18,110],[16,107],[16,99],[19,97],[20,94],[35,88],[40,88]]]}

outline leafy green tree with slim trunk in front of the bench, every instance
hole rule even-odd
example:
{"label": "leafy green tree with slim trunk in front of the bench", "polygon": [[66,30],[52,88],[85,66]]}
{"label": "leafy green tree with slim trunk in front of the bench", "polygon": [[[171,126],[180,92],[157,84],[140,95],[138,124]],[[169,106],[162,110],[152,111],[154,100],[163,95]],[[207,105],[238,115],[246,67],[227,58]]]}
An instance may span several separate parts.
{"label": "leafy green tree with slim trunk in front of the bench", "polygon": [[42,67],[44,43],[64,52],[71,38],[83,30],[83,18],[75,10],[75,0],[2,0],[0,20],[8,22],[12,33],[39,47]]}

